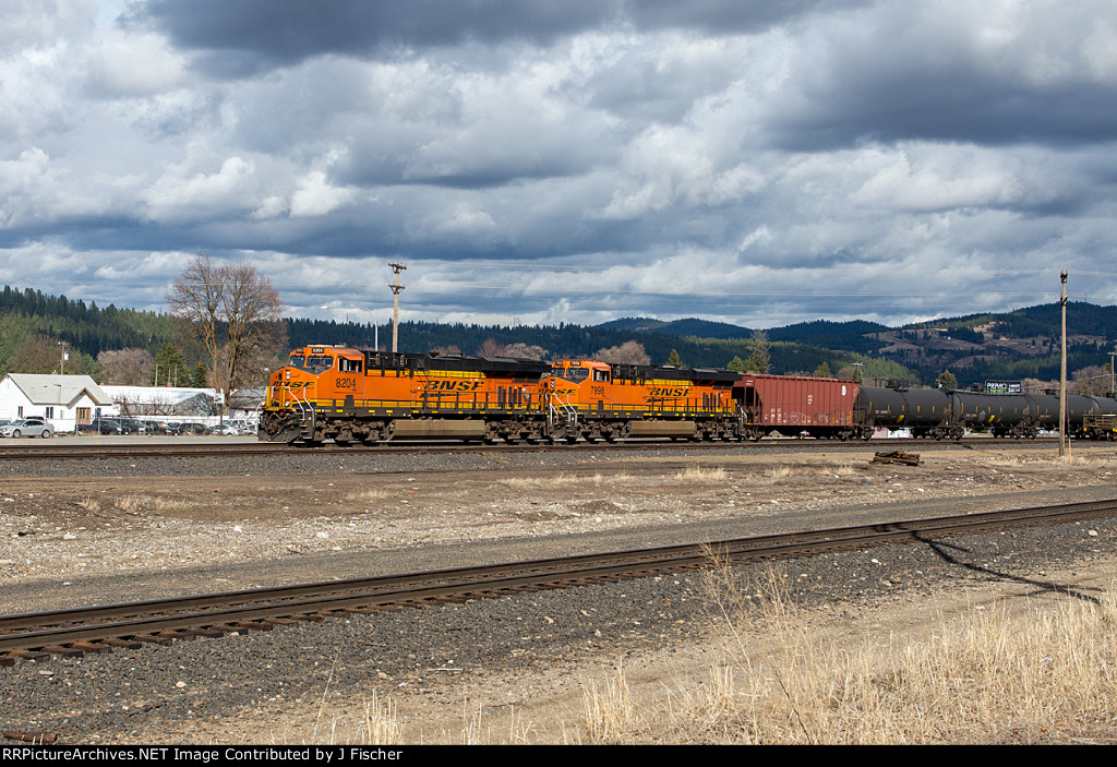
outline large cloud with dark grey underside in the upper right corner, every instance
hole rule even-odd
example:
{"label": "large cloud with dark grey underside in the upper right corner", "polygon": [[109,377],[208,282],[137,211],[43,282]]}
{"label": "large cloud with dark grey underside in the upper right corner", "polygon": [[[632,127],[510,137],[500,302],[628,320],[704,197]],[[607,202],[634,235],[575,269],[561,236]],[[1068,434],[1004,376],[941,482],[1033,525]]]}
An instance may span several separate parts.
{"label": "large cloud with dark grey underside in the upper right corner", "polygon": [[1113,19],[1067,12],[1052,28],[1050,13],[1032,10],[897,3],[804,36],[771,102],[770,145],[1073,146],[1117,137]]}

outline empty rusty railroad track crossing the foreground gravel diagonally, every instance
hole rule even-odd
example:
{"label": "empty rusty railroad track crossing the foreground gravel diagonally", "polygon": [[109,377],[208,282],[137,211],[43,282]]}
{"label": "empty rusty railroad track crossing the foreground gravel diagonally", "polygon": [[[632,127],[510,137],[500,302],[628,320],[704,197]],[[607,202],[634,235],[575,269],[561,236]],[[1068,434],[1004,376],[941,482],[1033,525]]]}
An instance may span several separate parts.
{"label": "empty rusty railroad track crossing the foreground gravel diagonally", "polygon": [[1117,515],[1117,499],[935,517],[705,544],[299,584],[126,604],[0,615],[0,665],[147,643],[268,631],[351,613],[421,608],[523,591],[569,588],[718,563],[812,556],[1024,525]]}

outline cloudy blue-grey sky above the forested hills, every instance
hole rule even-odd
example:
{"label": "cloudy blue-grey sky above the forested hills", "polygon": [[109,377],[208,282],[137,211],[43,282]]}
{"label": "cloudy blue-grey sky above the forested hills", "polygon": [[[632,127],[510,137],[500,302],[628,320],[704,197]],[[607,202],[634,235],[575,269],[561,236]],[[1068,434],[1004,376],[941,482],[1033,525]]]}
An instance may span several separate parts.
{"label": "cloudy blue-grey sky above the forested hills", "polygon": [[750,327],[1117,303],[1106,0],[0,0],[0,284]]}

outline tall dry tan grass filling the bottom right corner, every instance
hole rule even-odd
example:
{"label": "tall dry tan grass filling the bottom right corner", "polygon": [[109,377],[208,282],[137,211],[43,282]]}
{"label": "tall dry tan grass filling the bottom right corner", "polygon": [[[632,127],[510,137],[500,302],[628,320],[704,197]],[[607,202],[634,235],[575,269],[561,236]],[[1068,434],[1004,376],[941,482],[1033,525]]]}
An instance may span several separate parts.
{"label": "tall dry tan grass filling the bottom right corner", "polygon": [[[726,594],[724,589],[718,592]],[[1117,600],[975,610],[929,637],[840,646],[772,577],[720,602],[732,651],[685,698],[682,742],[1068,742],[1117,735]],[[758,606],[758,610],[757,610]]]}

